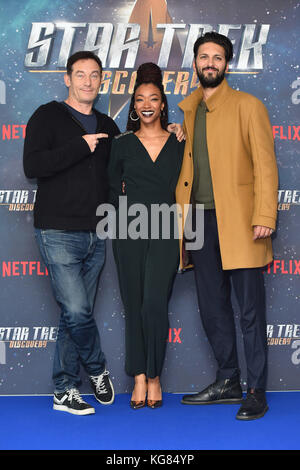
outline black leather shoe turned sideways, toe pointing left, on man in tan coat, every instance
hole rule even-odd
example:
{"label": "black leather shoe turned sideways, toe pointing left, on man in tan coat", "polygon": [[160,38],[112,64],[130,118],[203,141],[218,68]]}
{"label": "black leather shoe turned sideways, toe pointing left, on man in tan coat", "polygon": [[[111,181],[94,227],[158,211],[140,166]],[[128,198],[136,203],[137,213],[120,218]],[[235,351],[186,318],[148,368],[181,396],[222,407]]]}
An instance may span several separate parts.
{"label": "black leather shoe turned sideways, toe pointing left, on man in tan coat", "polygon": [[213,405],[242,403],[243,393],[237,378],[217,380],[202,392],[194,395],[184,395],[181,403],[184,405]]}

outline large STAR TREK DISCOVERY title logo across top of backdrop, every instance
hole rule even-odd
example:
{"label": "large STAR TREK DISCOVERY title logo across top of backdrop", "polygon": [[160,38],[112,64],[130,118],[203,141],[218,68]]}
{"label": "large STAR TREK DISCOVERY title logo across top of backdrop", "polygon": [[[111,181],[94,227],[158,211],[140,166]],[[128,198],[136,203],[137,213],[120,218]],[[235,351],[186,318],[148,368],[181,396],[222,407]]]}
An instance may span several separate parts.
{"label": "large STAR TREK DISCOVERY title logo across top of backdrop", "polygon": [[232,39],[235,56],[229,73],[256,74],[263,69],[269,24],[193,23],[186,9],[180,19],[174,13],[172,18],[165,0],[137,0],[133,7],[125,8],[122,19],[127,16],[127,23],[117,17],[114,23],[98,17],[97,22],[33,22],[25,67],[32,73],[63,72],[73,52],[93,51],[106,69],[100,93],[110,94],[109,114],[113,118],[130,99],[135,70],[143,62],[155,62],[163,69],[167,94],[186,95],[197,87],[192,71],[193,44],[198,36],[212,30]]}

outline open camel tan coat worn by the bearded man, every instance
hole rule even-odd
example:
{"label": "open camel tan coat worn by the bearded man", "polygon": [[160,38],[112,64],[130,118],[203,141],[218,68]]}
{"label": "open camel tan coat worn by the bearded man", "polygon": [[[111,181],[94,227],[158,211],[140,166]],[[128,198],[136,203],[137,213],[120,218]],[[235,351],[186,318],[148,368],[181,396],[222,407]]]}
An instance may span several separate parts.
{"label": "open camel tan coat worn by the bearded man", "polygon": [[[198,88],[179,103],[186,145],[176,188],[179,221],[193,184],[194,122],[202,100]],[[223,269],[265,266],[273,259],[270,237],[253,240],[253,226],[275,230],[278,172],[267,110],[253,95],[229,87],[226,79],[206,101],[207,146]],[[180,268],[184,269],[182,239]]]}

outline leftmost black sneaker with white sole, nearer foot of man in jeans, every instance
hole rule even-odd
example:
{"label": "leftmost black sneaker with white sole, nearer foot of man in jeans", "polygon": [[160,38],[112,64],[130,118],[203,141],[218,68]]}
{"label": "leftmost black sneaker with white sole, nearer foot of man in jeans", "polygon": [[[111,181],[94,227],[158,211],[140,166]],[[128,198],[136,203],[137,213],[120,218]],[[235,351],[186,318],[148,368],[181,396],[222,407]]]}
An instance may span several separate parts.
{"label": "leftmost black sneaker with white sole, nearer foot of man in jeans", "polygon": [[63,393],[54,393],[53,409],[81,416],[95,413],[95,408],[81,398],[76,388],[66,390]]}

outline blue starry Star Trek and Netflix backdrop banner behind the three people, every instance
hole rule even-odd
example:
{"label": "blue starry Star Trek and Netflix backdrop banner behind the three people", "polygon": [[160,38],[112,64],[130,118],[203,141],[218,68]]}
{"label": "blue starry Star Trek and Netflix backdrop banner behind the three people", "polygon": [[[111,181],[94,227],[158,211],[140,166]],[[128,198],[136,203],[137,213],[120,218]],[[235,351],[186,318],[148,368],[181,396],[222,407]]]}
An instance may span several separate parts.
{"label": "blue starry Star Trek and Netflix backdrop banner behind the three people", "polygon": [[[22,165],[29,117],[41,104],[67,97],[67,58],[85,49],[104,67],[96,108],[121,131],[135,71],[149,61],[163,70],[169,120],[182,122],[177,103],[198,86],[193,44],[211,30],[234,44],[230,86],[261,99],[273,126],[280,187],[275,260],[264,272],[267,388],[300,389],[299,10],[297,0],[0,1],[0,394],[52,393],[60,312],[33,236],[36,182],[25,178]],[[116,391],[127,392],[132,379],[124,372],[124,310],[110,242],[95,317]],[[192,271],[176,277],[169,318],[164,390],[196,391],[214,380],[216,364]],[[245,385],[237,308],[236,320]],[[89,393],[84,371],[82,380],[81,391]]]}

